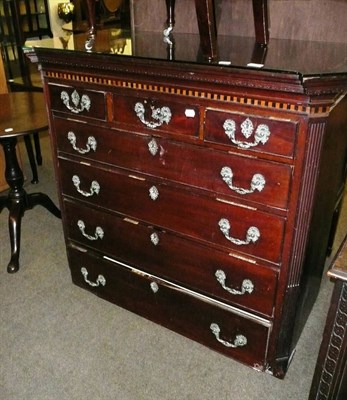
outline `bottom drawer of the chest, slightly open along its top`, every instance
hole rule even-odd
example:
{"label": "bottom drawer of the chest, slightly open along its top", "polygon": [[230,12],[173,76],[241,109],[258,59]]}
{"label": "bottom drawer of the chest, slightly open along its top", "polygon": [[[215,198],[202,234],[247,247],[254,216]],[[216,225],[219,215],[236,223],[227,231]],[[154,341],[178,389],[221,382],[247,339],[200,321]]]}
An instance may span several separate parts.
{"label": "bottom drawer of the chest, slightly open along its top", "polygon": [[153,275],[68,247],[73,282],[99,297],[263,370],[269,321]]}

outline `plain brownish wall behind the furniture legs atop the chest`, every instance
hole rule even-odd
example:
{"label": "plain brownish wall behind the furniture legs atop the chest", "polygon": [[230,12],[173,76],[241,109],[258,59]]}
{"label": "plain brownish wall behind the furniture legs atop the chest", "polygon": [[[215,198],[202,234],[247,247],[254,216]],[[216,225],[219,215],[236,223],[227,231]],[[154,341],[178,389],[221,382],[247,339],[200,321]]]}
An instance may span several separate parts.
{"label": "plain brownish wall behind the furniture legs atop the chest", "polygon": [[[270,37],[346,42],[347,0],[269,0]],[[163,29],[164,0],[131,0],[133,26]],[[215,0],[219,35],[254,36],[251,0]],[[197,32],[194,0],[176,1],[176,32]]]}

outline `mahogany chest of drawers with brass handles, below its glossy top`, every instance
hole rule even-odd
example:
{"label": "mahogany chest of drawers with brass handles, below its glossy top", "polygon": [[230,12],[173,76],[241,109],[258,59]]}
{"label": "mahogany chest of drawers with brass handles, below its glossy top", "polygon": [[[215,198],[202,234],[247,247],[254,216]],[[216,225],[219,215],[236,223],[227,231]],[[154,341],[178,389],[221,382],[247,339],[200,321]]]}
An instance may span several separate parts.
{"label": "mahogany chest of drawers with brass handles, below its glossy top", "polygon": [[73,282],[283,377],[343,187],[347,76],[35,52]]}

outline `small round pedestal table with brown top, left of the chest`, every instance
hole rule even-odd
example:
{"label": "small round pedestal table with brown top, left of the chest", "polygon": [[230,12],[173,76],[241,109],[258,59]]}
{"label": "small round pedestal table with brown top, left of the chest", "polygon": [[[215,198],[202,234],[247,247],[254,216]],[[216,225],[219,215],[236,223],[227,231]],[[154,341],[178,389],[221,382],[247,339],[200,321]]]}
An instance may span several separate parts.
{"label": "small round pedestal table with brown top, left of the chest", "polygon": [[27,194],[23,188],[24,177],[19,166],[17,138],[48,128],[45,102],[42,93],[18,92],[0,94],[0,144],[5,154],[5,179],[10,189],[7,196],[0,196],[0,212],[9,210],[8,227],[11,242],[9,273],[19,269],[21,220],[26,210],[41,205],[57,218],[60,210],[43,193]]}

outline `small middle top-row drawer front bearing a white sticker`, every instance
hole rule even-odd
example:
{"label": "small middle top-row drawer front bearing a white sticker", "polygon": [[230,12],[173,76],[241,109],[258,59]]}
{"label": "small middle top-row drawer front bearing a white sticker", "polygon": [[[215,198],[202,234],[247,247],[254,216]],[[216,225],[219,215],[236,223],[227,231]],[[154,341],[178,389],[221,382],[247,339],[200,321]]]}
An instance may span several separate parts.
{"label": "small middle top-row drawer front bearing a white sticker", "polygon": [[113,96],[114,122],[137,132],[158,131],[175,135],[199,135],[199,107],[167,97]]}

